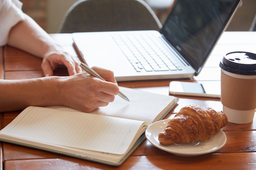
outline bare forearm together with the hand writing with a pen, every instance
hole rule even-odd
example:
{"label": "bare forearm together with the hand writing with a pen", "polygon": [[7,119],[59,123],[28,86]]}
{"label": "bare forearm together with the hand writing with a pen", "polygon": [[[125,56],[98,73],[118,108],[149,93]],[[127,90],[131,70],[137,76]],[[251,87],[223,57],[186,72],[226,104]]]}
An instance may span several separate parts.
{"label": "bare forearm together with the hand writing with a pen", "polygon": [[49,76],[36,79],[1,80],[0,112],[21,110],[27,106],[68,106],[91,112],[113,102],[119,87],[111,71],[94,68],[103,81],[88,73]]}

